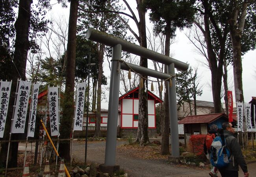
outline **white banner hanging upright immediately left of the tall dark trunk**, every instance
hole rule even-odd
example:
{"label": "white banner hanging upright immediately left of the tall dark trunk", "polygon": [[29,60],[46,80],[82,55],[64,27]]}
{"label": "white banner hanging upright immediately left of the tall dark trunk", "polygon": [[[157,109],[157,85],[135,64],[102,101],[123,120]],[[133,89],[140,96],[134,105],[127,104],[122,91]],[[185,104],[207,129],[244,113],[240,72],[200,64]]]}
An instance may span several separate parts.
{"label": "white banner hanging upright immediately left of the tall dark trunk", "polygon": [[49,114],[50,114],[50,129],[52,136],[59,135],[59,94],[58,87],[49,87]]}

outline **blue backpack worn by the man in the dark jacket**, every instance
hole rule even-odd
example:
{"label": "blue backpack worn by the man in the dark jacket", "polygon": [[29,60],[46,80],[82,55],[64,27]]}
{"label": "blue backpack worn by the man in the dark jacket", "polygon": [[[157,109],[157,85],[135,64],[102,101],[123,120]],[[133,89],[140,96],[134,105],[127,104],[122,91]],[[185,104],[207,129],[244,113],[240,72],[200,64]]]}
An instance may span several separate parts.
{"label": "blue backpack worn by the man in the dark jacket", "polygon": [[[232,135],[227,135],[232,136]],[[227,137],[225,136],[225,137]],[[217,168],[228,166],[231,159],[231,154],[226,148],[226,139],[221,136],[214,138],[210,149],[210,162]]]}

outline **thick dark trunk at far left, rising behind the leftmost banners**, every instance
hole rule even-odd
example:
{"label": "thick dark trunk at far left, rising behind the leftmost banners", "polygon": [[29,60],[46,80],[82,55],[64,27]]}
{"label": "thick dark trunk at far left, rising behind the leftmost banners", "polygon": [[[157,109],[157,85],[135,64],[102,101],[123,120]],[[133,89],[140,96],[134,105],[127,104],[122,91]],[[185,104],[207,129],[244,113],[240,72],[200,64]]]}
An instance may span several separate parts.
{"label": "thick dark trunk at far left, rising behind the leftmost banners", "polygon": [[[26,61],[29,49],[29,27],[30,27],[30,7],[32,0],[20,0],[19,1],[19,13],[17,20],[15,22],[16,39],[15,39],[15,52],[13,57],[13,63],[17,67],[19,73],[12,66],[10,69],[10,79],[12,79],[11,94],[9,100],[8,114],[6,119],[6,126],[4,131],[4,140],[9,140],[9,132],[11,130],[11,119],[13,118],[13,105],[15,100],[15,92],[17,79],[21,77],[22,80],[26,80]],[[13,134],[12,139],[19,139],[20,134]],[[19,142],[11,143],[9,152],[9,163],[8,167],[17,167],[17,157],[18,157],[18,146]],[[7,155],[8,143],[1,144],[0,152],[0,163],[6,165],[6,155]]]}

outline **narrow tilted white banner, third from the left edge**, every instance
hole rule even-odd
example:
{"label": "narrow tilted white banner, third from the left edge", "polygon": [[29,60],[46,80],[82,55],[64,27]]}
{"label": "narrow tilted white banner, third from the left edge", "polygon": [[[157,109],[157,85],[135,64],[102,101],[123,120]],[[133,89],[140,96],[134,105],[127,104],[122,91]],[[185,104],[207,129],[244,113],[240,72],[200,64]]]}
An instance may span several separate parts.
{"label": "narrow tilted white banner, third from the left edge", "polygon": [[32,97],[31,97],[31,114],[30,122],[28,124],[28,137],[34,137],[35,133],[35,119],[37,114],[37,101],[38,101],[39,83],[33,84]]}

